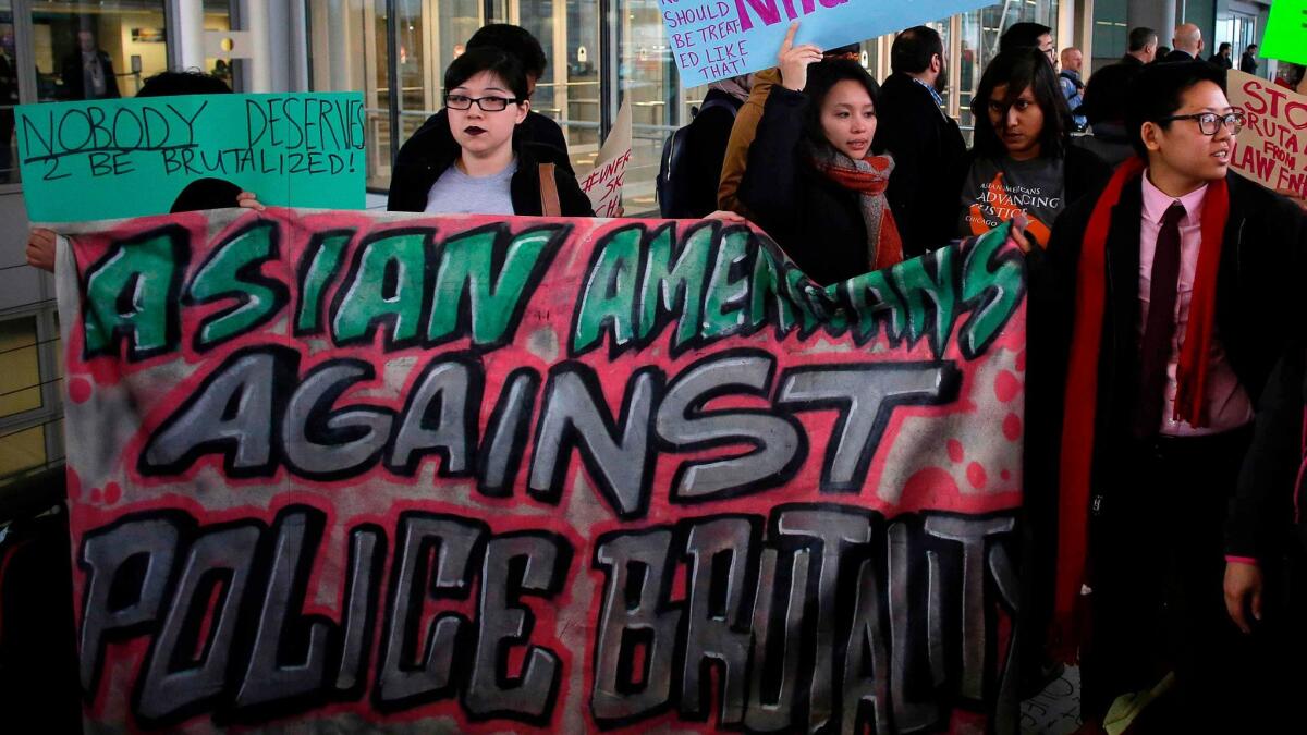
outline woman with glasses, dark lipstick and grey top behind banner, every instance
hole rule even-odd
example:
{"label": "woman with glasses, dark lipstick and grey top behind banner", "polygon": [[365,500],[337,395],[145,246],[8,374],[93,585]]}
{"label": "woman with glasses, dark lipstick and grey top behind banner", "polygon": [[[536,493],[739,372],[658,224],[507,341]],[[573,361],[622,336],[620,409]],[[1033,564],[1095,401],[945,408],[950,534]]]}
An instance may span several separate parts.
{"label": "woman with glasses, dark lipstick and grey top behind banner", "polygon": [[[400,148],[396,171],[403,162],[405,174],[392,178],[387,209],[593,217],[571,171],[542,166],[553,146],[515,135],[531,111],[527,76],[521,61],[499,48],[468,48],[455,59],[444,72],[448,135],[423,126]],[[549,179],[557,200],[548,196]]]}

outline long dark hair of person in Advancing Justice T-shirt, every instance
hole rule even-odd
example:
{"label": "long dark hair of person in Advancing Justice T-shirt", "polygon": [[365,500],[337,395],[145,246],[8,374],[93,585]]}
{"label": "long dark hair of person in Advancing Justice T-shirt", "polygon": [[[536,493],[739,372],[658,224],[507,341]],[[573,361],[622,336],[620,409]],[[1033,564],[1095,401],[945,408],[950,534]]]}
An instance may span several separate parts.
{"label": "long dark hair of person in Advancing Justice T-shirt", "polygon": [[1008,154],[999,132],[989,124],[989,98],[993,97],[993,88],[1004,84],[1008,85],[1008,92],[1001,99],[1004,105],[1012,105],[1022,92],[1031,90],[1044,114],[1044,128],[1039,133],[1039,154],[1060,158],[1067,150],[1070,110],[1057,85],[1053,65],[1048,63],[1043,51],[1030,47],[1001,51],[985,67],[980,86],[971,98],[971,115],[976,126],[974,144],[976,153],[987,158]]}

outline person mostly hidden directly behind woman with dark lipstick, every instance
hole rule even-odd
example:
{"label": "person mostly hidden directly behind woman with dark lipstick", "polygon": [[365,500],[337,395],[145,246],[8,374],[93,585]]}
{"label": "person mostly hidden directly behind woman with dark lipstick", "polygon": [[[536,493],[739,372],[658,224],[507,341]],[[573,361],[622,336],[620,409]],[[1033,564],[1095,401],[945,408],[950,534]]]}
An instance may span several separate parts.
{"label": "person mostly hidden directly behind woman with dark lipstick", "polygon": [[[508,24],[489,24],[481,26],[465,44],[464,54],[473,48],[495,48],[518,59],[527,75],[527,93],[523,99],[529,101],[536,92],[536,82],[545,75],[548,58],[545,50],[531,35],[531,31],[521,26]],[[455,56],[455,60],[457,56]],[[448,90],[446,90],[448,92]],[[447,109],[442,107],[422,123],[422,127],[409,137],[404,145],[413,145],[406,153],[400,148],[391,171],[391,188],[396,182],[400,188],[413,191],[414,186],[426,180],[430,171],[422,169],[423,160],[414,156],[418,149],[448,149],[454,145],[454,136],[450,133],[450,119]],[[533,156],[544,163],[553,163],[559,169],[574,174],[571,158],[567,156],[567,139],[563,129],[553,119],[529,110],[527,118],[516,128],[515,135],[525,143],[532,143]],[[405,207],[418,207],[418,203],[406,203]],[[421,212],[421,207],[418,209]]]}

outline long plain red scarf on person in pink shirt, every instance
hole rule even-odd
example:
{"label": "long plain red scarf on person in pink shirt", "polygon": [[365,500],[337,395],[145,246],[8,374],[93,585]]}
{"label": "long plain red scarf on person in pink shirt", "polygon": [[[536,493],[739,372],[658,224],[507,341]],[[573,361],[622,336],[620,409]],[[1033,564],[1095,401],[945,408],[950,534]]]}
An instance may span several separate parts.
{"label": "long plain red scarf on person in pink shirt", "polygon": [[[1070,365],[1064,399],[1061,467],[1057,519],[1057,581],[1053,587],[1053,655],[1073,663],[1081,645],[1078,608],[1085,582],[1090,475],[1094,454],[1094,420],[1098,408],[1098,353],[1103,336],[1107,299],[1107,231],[1112,207],[1121,190],[1144,171],[1138,157],[1127,160],[1098,197],[1085,231],[1076,275],[1076,320],[1072,331]],[[1230,214],[1230,191],[1225,179],[1208,184],[1202,204],[1202,245],[1189,302],[1189,323],[1180,345],[1176,369],[1175,419],[1191,426],[1208,425],[1206,385],[1216,322],[1217,267]]]}

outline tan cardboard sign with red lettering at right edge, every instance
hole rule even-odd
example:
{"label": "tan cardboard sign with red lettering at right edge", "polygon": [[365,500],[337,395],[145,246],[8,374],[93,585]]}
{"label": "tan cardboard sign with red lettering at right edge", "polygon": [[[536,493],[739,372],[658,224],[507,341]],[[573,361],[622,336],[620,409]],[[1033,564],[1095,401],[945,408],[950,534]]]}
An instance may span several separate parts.
{"label": "tan cardboard sign with red lettering at right edge", "polygon": [[1252,75],[1227,73],[1230,105],[1246,116],[1230,166],[1268,188],[1307,196],[1307,97]]}

